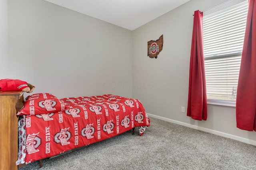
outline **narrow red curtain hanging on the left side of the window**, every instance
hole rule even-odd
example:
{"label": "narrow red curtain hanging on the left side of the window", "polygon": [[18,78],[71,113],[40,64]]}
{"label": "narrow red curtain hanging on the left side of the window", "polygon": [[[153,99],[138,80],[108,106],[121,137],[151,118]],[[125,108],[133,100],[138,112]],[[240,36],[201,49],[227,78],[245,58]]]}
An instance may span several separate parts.
{"label": "narrow red curtain hanging on the left side of the window", "polygon": [[207,119],[202,21],[203,12],[195,11],[190,54],[187,116],[196,120]]}

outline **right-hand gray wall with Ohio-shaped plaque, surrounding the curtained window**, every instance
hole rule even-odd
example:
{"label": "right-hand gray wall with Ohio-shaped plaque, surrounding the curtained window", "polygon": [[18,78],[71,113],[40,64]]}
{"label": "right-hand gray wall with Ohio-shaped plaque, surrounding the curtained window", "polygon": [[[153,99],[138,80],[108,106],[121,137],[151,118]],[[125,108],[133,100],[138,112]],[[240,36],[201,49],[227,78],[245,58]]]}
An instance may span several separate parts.
{"label": "right-hand gray wall with Ohio-shaped plaque, surrounding the curtained window", "polygon": [[[255,132],[236,128],[235,107],[208,105],[207,121],[181,112],[188,102],[192,15],[225,1],[191,0],[132,32],[132,95],[151,116],[256,145]],[[157,59],[150,59],[147,42],[162,34],[163,50]]]}

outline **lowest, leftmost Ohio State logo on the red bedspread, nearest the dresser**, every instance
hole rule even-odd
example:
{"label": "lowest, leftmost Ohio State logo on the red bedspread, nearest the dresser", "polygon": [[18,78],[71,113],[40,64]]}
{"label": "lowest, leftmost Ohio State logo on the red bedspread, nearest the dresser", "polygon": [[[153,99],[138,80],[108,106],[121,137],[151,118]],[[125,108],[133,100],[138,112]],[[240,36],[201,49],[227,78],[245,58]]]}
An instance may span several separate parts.
{"label": "lowest, leftmost Ohio State logo on the red bedspread, nearest the dresser", "polygon": [[41,138],[38,137],[38,133],[28,134],[26,139],[26,150],[28,154],[39,152],[37,149],[41,145]]}

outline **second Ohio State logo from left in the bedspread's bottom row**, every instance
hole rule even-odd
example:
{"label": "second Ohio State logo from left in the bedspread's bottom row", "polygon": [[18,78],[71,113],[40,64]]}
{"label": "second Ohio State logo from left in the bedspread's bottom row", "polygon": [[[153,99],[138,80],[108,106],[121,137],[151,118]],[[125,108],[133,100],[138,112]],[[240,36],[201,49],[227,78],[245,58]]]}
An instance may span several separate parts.
{"label": "second Ohio State logo from left in the bedspread's bottom row", "polygon": [[71,137],[71,133],[68,130],[69,128],[60,129],[60,132],[54,135],[54,142],[60,143],[61,146],[70,144],[68,140]]}

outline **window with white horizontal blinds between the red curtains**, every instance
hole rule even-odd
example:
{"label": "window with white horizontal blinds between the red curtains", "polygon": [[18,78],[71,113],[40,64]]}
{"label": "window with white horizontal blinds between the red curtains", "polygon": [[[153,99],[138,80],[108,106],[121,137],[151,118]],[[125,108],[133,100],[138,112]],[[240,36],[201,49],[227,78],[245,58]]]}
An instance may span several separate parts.
{"label": "window with white horizontal blinds between the red curtains", "polygon": [[247,0],[231,0],[210,9],[211,14],[204,12],[206,93],[210,104],[235,106],[247,10]]}

